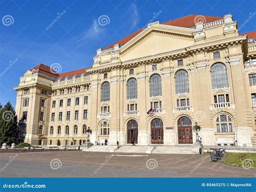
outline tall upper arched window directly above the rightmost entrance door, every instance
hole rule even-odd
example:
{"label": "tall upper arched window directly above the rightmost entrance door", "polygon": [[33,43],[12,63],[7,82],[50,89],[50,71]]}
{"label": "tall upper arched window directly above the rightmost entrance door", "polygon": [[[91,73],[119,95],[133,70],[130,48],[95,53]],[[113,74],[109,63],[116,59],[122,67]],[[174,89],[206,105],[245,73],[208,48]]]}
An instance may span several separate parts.
{"label": "tall upper arched window directly above the rightmost entrance door", "polygon": [[188,74],[186,70],[179,70],[175,73],[175,92],[176,94],[190,92]]}

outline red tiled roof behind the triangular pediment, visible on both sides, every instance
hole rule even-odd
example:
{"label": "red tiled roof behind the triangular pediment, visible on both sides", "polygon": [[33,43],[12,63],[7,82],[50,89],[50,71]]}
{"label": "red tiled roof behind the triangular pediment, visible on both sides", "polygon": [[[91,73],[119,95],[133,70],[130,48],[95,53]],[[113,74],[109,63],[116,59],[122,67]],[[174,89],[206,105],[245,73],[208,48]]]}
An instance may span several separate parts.
{"label": "red tiled roof behind the triangular pediment, visible on both sides", "polygon": [[[164,22],[161,23],[163,25],[172,25],[172,26],[180,26],[183,28],[191,28],[195,25],[196,22],[200,22],[203,21],[204,23],[210,23],[213,22],[214,20],[220,20],[223,19],[223,17],[213,17],[213,16],[200,16],[200,15],[188,15],[185,17],[181,17],[178,19],[173,19],[173,20],[169,20],[168,22]],[[142,32],[144,29],[140,29],[134,33],[132,33],[131,35],[118,40],[116,43],[113,43],[107,47],[105,47],[104,49],[109,49],[111,47],[113,47],[115,44],[119,44],[119,45],[124,45],[125,43],[129,42],[129,40],[131,40],[133,37],[137,36],[140,32]]]}

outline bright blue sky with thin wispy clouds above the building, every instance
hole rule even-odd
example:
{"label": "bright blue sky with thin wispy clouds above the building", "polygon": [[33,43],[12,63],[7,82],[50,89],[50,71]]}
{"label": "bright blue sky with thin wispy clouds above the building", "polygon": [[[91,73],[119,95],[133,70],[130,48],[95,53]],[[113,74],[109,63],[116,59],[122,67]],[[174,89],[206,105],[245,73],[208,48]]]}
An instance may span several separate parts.
{"label": "bright blue sky with thin wispy clouds above the building", "polygon": [[[92,66],[98,48],[143,28],[154,15],[158,15],[154,20],[164,22],[191,14],[224,16],[232,13],[233,19],[241,25],[256,12],[255,7],[256,0],[0,0],[0,102],[16,104],[13,88],[31,67],[59,63],[61,72],[67,72]],[[99,18],[102,17],[101,23]],[[239,33],[254,30],[256,17]]]}

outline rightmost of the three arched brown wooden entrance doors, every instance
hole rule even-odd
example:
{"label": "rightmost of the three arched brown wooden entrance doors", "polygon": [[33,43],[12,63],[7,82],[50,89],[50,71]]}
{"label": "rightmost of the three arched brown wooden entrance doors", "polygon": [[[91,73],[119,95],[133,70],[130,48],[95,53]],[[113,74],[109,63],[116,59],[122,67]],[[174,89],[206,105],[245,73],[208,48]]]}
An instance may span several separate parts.
{"label": "rightmost of the three arched brown wooden entrance doors", "polygon": [[193,143],[192,124],[187,116],[178,120],[179,143]]}

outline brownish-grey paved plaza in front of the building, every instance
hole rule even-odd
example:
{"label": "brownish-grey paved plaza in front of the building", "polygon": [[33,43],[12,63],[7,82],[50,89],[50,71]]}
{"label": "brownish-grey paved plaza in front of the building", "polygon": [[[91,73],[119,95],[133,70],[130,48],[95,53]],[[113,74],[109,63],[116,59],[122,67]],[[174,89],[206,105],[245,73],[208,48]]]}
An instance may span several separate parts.
{"label": "brownish-grey paved plaza in front of the building", "polygon": [[256,177],[209,155],[80,151],[0,153],[1,177]]}

